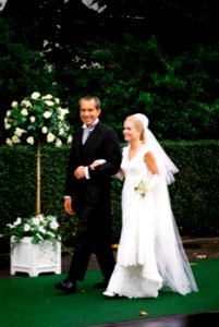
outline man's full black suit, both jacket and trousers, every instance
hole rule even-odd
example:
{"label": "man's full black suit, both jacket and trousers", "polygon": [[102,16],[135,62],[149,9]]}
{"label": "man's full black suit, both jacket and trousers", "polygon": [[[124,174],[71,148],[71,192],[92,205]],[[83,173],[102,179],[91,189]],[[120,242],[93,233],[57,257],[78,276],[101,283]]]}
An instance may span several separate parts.
{"label": "man's full black suit, both jacket and trousers", "polygon": [[[83,280],[92,250],[100,269],[108,280],[114,268],[111,250],[111,177],[121,165],[121,152],[117,133],[98,121],[87,141],[82,145],[83,129],[73,135],[70,154],[65,195],[72,196],[72,207],[78,216],[77,234],[69,278]],[[89,169],[90,179],[77,180],[74,170],[89,166],[97,159],[106,162],[95,170]]]}

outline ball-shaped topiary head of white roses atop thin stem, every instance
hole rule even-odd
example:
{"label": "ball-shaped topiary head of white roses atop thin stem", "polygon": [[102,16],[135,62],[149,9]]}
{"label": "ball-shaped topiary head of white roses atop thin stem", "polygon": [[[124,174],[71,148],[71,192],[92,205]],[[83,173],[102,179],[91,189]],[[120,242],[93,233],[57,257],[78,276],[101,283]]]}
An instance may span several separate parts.
{"label": "ball-shaped topiary head of white roses atop thin stem", "polygon": [[7,144],[34,145],[39,141],[59,147],[63,142],[71,143],[68,113],[69,109],[62,108],[60,99],[50,94],[41,96],[34,92],[20,104],[13,101],[4,118],[4,128],[10,132]]}

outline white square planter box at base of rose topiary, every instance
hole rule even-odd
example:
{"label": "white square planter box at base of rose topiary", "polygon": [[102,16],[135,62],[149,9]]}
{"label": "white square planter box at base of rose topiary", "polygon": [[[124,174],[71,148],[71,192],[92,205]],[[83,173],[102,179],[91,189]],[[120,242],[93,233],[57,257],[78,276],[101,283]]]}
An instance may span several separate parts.
{"label": "white square planter box at base of rose topiary", "polygon": [[23,238],[11,252],[11,275],[15,272],[27,272],[29,276],[61,274],[61,242],[41,241],[33,244],[31,237]]}

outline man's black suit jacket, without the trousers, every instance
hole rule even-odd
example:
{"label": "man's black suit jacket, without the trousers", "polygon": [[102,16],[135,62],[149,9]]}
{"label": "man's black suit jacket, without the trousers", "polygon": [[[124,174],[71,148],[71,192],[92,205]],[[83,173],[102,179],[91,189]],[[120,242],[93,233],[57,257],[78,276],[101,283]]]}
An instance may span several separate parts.
{"label": "man's black suit jacket, without the trousers", "polygon": [[[109,192],[111,177],[119,171],[121,165],[119,141],[113,129],[99,121],[84,145],[82,135],[82,128],[73,134],[64,189],[64,195],[72,196],[75,210],[80,207],[80,203],[84,202],[87,192],[89,201],[101,202]],[[74,178],[74,170],[78,166],[89,166],[97,159],[105,159],[106,162],[95,170],[89,169],[89,180]]]}

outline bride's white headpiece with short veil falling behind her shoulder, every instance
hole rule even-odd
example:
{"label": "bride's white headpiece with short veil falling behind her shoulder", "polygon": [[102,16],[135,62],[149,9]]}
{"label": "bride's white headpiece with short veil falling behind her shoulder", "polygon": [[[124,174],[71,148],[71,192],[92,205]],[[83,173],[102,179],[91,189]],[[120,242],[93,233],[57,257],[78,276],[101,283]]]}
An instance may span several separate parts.
{"label": "bride's white headpiece with short veil falling behind her shoulder", "polygon": [[158,169],[166,178],[166,181],[168,184],[171,184],[174,182],[174,173],[179,172],[178,167],[172,162],[172,160],[168,157],[155,135],[151,133],[151,131],[148,129],[149,120],[148,118],[143,113],[135,113],[133,114],[136,119],[138,119],[143,126],[144,126],[144,140],[143,142],[149,146],[153,154],[156,157]]}

